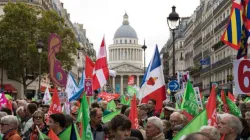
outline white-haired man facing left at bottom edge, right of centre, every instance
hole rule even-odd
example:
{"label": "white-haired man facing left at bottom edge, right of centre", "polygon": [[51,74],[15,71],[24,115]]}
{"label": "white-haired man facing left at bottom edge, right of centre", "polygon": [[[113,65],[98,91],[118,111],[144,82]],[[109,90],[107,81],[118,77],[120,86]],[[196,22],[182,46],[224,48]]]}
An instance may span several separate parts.
{"label": "white-haired man facing left at bottom edge, right of centre", "polygon": [[165,140],[163,122],[160,118],[155,116],[148,118],[146,137],[147,140]]}

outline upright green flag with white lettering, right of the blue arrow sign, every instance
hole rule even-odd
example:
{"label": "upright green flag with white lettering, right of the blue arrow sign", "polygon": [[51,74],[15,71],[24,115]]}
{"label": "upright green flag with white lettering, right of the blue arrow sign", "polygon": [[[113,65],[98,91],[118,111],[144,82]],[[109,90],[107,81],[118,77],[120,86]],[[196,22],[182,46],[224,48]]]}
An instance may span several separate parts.
{"label": "upright green flag with white lettering, right of the blue arrow sign", "polygon": [[199,114],[199,106],[196,100],[196,94],[189,80],[187,82],[187,86],[184,92],[183,100],[181,103],[181,109],[186,110],[192,116],[196,116]]}

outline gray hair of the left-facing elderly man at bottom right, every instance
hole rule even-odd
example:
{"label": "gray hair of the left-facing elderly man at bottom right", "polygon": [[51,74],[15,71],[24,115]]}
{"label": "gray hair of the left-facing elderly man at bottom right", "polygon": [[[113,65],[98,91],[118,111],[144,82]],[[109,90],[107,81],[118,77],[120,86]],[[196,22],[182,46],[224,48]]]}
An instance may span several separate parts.
{"label": "gray hair of the left-facing elderly man at bottom right", "polygon": [[221,119],[225,119],[225,118],[229,118],[228,119],[228,124],[231,128],[234,128],[237,132],[237,134],[241,134],[242,130],[243,130],[243,126],[242,123],[240,121],[239,118],[235,117],[234,115],[225,113],[225,114],[221,114],[220,115]]}

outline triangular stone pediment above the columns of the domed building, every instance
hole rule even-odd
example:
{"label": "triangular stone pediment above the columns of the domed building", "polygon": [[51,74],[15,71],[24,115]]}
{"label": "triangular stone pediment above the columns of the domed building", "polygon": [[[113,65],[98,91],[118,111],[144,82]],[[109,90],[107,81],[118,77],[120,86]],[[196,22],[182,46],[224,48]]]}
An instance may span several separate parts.
{"label": "triangular stone pediment above the columns of the domed building", "polygon": [[112,68],[116,72],[143,72],[142,68],[133,66],[132,64],[122,63]]}

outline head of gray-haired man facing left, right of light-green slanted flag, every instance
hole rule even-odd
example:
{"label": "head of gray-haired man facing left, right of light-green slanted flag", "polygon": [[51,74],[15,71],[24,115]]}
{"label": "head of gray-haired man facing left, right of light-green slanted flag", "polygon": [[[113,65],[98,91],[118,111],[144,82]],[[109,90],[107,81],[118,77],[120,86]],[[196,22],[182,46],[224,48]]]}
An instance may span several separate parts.
{"label": "head of gray-haired man facing left, right of light-green slanted flag", "polygon": [[239,118],[231,114],[221,114],[221,120],[218,128],[221,134],[225,135],[225,140],[239,140],[239,135],[243,130],[242,123]]}

